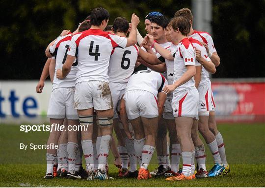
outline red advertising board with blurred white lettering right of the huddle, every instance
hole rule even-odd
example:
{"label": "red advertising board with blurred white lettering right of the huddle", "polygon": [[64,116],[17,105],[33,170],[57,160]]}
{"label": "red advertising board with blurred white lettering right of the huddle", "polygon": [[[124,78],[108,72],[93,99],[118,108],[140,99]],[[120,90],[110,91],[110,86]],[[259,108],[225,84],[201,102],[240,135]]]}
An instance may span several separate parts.
{"label": "red advertising board with blurred white lettering right of the huddle", "polygon": [[265,122],[265,82],[213,82],[218,121]]}

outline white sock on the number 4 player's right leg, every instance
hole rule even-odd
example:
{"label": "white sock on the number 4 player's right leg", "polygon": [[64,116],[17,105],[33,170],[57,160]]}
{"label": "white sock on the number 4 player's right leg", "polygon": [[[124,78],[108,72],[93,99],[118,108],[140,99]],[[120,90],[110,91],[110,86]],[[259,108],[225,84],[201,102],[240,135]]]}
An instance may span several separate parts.
{"label": "white sock on the number 4 player's right leg", "polygon": [[106,170],[106,161],[108,157],[108,152],[111,144],[111,136],[104,135],[101,137],[100,141],[100,151],[99,151],[99,167],[101,171],[105,172]]}

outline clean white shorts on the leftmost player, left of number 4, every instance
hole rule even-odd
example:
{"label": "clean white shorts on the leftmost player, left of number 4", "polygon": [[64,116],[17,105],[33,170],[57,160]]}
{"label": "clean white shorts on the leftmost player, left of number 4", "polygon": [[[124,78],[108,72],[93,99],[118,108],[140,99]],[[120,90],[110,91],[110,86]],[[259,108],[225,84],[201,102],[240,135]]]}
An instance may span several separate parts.
{"label": "clean white shorts on the leftmost player, left of number 4", "polygon": [[54,89],[49,101],[47,117],[79,119],[77,110],[74,108],[74,94],[75,88]]}

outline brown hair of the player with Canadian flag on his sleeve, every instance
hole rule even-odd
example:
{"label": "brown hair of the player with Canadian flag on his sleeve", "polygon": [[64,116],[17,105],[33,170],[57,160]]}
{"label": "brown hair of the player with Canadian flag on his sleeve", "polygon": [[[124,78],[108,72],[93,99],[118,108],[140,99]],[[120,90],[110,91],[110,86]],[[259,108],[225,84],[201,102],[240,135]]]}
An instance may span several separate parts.
{"label": "brown hair of the player with Canadian flag on his sleeve", "polygon": [[179,31],[185,36],[187,36],[190,31],[189,20],[185,19],[184,17],[175,17],[172,19],[170,24],[174,29],[174,31],[176,31],[177,28],[179,28]]}

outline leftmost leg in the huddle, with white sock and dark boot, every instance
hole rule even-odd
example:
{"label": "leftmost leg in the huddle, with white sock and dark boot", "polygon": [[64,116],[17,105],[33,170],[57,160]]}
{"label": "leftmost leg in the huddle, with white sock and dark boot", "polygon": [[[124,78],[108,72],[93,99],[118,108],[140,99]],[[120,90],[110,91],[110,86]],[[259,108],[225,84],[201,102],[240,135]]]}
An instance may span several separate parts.
{"label": "leftmost leg in the huddle, with white sock and dark boot", "polygon": [[[50,118],[50,124],[60,126],[63,124],[63,120],[64,120],[63,118],[62,119]],[[50,133],[49,139],[47,141],[47,145],[50,144],[57,145],[60,135],[61,131],[54,130],[53,128],[52,132]],[[46,154],[47,170],[46,170],[46,175],[44,176],[45,179],[53,179],[53,164],[56,155],[57,155],[57,149],[55,148],[47,149],[47,154]]]}

